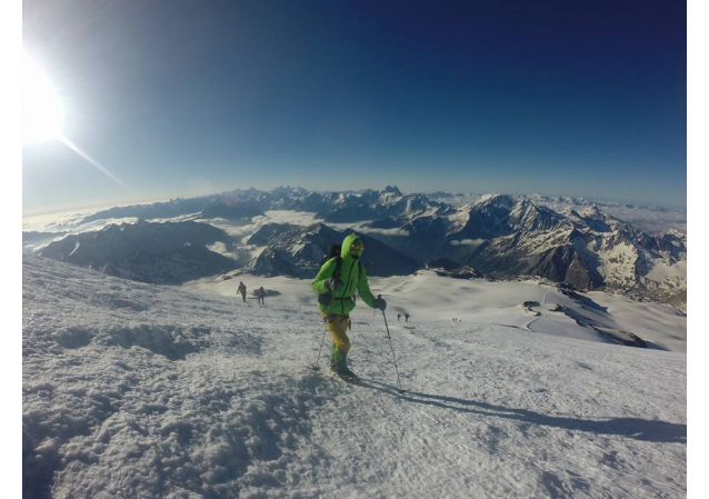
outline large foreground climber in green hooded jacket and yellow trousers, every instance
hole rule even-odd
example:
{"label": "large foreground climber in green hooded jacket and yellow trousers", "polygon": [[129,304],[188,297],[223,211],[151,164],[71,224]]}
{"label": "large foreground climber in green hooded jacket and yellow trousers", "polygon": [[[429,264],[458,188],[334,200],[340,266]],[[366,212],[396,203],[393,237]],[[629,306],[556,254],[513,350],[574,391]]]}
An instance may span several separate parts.
{"label": "large foreground climber in green hooded jacket and yellow trousers", "polygon": [[327,260],[312,281],[312,289],[318,293],[318,310],[332,337],[330,369],[353,379],[357,376],[347,367],[347,352],[350,350],[347,328],[350,323],[349,313],[354,308],[354,292],[371,308],[387,308],[387,301],[375,298],[369,290],[365,266],[360,261],[363,251],[365,243],[359,236],[347,236],[342,241],[339,261],[337,257]]}

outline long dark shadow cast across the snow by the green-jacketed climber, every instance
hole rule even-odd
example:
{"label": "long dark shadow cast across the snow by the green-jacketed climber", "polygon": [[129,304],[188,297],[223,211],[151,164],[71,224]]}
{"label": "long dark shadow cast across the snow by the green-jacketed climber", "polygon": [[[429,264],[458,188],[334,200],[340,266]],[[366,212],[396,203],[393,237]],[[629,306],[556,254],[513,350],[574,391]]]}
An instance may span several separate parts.
{"label": "long dark shadow cast across the snow by the green-jacketed climber", "polygon": [[687,425],[648,420],[640,418],[611,418],[606,420],[579,419],[559,416],[548,416],[528,409],[512,409],[492,403],[465,400],[455,397],[445,397],[417,391],[408,391],[400,395],[396,387],[378,381],[361,380],[361,385],[400,397],[407,401],[426,406],[440,407],[459,412],[469,412],[480,416],[491,416],[520,421],[527,425],[541,425],[547,427],[563,428],[570,431],[588,431],[599,435],[619,435],[637,440],[651,442],[687,443]]}

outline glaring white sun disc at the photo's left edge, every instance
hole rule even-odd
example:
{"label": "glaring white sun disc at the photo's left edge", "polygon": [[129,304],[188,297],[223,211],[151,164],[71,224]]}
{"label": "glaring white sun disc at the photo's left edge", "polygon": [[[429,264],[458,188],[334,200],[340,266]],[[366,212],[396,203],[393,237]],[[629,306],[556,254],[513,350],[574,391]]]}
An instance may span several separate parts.
{"label": "glaring white sun disc at the photo's left edge", "polygon": [[27,53],[23,53],[22,79],[22,143],[60,139],[64,127],[64,108],[59,93],[44,71]]}

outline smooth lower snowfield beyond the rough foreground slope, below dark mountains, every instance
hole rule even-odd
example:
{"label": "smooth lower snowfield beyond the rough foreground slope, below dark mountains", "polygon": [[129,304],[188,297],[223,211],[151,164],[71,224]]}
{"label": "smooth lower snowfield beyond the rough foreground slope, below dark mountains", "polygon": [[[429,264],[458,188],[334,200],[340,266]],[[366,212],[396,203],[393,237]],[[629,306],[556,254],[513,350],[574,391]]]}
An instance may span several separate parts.
{"label": "smooth lower snowfield beyond the rough foreground slope, below dark mountains", "polygon": [[[240,281],[249,290],[260,286],[277,290],[278,303],[299,310],[316,307],[309,280],[243,273],[228,280],[204,278],[183,287],[199,295],[234,297]],[[579,293],[588,298],[579,303],[556,286],[538,279],[490,282],[440,277],[432,270],[420,270],[413,276],[369,278],[369,283],[372,292],[387,298],[391,320],[396,320],[397,313],[409,313],[417,321],[443,323],[457,318],[481,327],[493,323],[530,332],[615,342],[607,335],[599,335],[596,327],[608,332],[631,332],[648,341],[651,348],[687,351],[687,316],[661,303],[636,302],[606,292]],[[526,301],[538,305],[525,307]],[[559,307],[561,311],[557,310]]]}

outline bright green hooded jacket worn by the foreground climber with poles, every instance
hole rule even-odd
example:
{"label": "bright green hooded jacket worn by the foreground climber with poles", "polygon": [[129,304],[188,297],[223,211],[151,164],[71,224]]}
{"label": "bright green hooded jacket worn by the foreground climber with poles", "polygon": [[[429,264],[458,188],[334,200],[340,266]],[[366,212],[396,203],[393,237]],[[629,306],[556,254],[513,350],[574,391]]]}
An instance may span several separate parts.
{"label": "bright green hooded jacket worn by the foreground climber with poles", "polygon": [[[340,280],[342,287],[340,287],[332,297],[330,305],[318,303],[318,310],[326,313],[339,313],[348,315],[354,308],[354,303],[351,297],[354,291],[359,292],[359,296],[365,303],[375,308],[375,296],[369,290],[367,283],[367,273],[365,272],[365,266],[358,265],[358,260],[352,258],[350,253],[350,246],[356,239],[360,239],[356,233],[351,233],[342,241],[342,249],[340,250],[340,257],[342,258],[342,266],[340,267]],[[359,257],[362,258],[361,255]],[[334,272],[334,266],[337,265],[337,258],[331,258],[320,268],[320,271],[312,281],[312,290],[319,295],[329,293],[330,289],[324,285],[324,281],[332,277]],[[339,299],[344,298],[344,299]]]}

